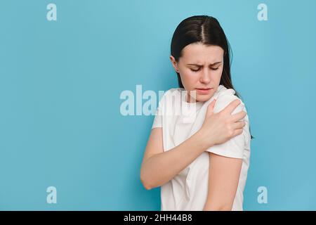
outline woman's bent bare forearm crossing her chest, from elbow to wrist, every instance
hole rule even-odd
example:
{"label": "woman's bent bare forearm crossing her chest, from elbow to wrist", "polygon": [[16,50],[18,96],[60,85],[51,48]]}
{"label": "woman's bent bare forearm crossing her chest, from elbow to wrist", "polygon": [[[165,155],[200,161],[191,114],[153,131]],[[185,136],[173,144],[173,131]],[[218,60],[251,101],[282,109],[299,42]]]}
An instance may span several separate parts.
{"label": "woman's bent bare forearm crossing her chest, from elbow to wrist", "polygon": [[143,162],[140,169],[140,179],[147,190],[166,184],[176,174],[190,165],[207,148],[201,141],[203,134],[200,131],[193,134],[180,145],[166,152],[152,155]]}

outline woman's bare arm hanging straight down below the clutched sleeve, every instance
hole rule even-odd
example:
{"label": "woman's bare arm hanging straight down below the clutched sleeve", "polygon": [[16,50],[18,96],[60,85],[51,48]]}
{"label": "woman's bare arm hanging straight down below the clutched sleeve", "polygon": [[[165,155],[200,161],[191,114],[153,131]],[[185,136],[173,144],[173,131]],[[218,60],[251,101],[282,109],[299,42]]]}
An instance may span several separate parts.
{"label": "woman's bare arm hanging straight down below the clutched sleeve", "polygon": [[204,210],[232,210],[241,169],[241,158],[209,153],[209,191]]}

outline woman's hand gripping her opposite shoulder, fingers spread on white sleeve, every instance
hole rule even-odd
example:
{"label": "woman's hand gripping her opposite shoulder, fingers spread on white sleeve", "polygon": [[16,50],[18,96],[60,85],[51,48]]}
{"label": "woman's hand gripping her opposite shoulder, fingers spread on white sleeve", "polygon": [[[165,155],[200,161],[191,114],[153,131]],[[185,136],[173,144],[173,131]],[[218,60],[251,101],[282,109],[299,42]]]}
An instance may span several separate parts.
{"label": "woman's hand gripping her opposite shoulder, fingers spread on white sleeve", "polygon": [[199,129],[200,134],[202,134],[202,141],[207,148],[225,143],[232,137],[242,134],[245,125],[244,121],[239,120],[242,120],[246,116],[246,112],[241,111],[231,115],[241,103],[239,99],[232,101],[218,113],[213,113],[215,103],[216,99],[208,105],[204,123],[201,129]]}

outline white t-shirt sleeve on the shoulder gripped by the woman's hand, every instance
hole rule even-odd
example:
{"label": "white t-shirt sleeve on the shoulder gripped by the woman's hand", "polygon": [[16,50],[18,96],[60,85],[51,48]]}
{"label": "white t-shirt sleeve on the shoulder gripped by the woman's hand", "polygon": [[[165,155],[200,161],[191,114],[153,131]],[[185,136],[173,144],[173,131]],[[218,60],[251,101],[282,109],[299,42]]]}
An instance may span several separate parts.
{"label": "white t-shirt sleeve on the shoulder gripped by the woman's hand", "polygon": [[[235,99],[239,99],[239,98],[237,96],[234,96],[234,95],[220,96],[216,101],[213,112],[214,113],[220,112],[227,105],[229,105],[229,103],[231,103]],[[241,100],[239,99],[239,101],[241,101]],[[232,115],[239,113],[242,110],[244,110],[246,112],[246,109],[244,107],[244,103],[241,102],[237,106],[237,108],[235,108],[235,110],[232,111]],[[244,118],[242,119],[243,121],[244,121]],[[243,158],[244,147],[245,147],[246,129],[248,129],[247,126],[244,126],[242,134],[239,134],[239,135],[233,137],[232,139],[226,141],[225,143],[211,146],[211,148],[208,148],[206,151],[208,151],[210,153],[215,153],[217,155],[223,155],[223,156],[229,157],[229,158]]]}

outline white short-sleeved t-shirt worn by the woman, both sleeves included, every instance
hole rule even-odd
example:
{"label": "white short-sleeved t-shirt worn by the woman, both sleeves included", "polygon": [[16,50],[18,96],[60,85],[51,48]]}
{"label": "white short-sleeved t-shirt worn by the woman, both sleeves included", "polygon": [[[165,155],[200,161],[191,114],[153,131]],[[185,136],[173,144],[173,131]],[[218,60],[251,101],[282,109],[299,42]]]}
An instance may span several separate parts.
{"label": "white short-sleeved t-shirt worn by the woman, both sleeves included", "polygon": [[[223,85],[219,85],[216,93],[213,94],[209,101],[205,102],[187,103],[185,94],[186,91],[183,88],[169,89],[159,101],[152,129],[154,127],[162,127],[164,151],[178,146],[202,127],[207,106],[214,98],[217,99],[213,110],[214,113],[223,110],[230,102],[238,98],[234,95],[234,89],[226,89]],[[235,108],[232,115],[242,110],[246,112],[243,102]],[[243,120],[246,122],[246,125],[242,134],[233,137],[225,143],[207,149],[161,187],[162,211],[203,210],[209,184],[208,152],[230,158],[242,158],[242,169],[232,210],[243,210],[243,191],[249,168],[251,140],[248,115]]]}

